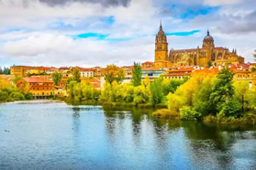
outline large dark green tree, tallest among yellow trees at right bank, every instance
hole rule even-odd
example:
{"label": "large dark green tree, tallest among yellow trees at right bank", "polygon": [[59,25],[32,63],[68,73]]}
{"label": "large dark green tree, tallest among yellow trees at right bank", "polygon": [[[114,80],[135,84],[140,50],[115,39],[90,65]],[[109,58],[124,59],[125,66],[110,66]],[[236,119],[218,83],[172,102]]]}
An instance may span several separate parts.
{"label": "large dark green tree, tallest among yellow trees at right bank", "polygon": [[213,113],[219,113],[221,117],[239,116],[238,102],[234,99],[233,76],[234,72],[228,68],[219,71],[210,95]]}

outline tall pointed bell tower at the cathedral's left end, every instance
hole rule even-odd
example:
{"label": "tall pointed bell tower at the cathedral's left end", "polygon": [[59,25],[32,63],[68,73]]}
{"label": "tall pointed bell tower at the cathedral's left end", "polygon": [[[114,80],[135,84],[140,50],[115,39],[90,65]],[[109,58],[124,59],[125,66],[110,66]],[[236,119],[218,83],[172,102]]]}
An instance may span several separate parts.
{"label": "tall pointed bell tower at the cathedral's left end", "polygon": [[168,43],[161,24],[155,39],[155,68],[167,68],[168,63]]}

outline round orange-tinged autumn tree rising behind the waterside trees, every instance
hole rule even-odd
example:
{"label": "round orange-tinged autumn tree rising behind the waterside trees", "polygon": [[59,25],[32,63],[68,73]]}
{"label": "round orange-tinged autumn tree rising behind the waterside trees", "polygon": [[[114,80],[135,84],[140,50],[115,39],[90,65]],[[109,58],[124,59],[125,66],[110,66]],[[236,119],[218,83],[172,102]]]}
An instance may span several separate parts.
{"label": "round orange-tinged autumn tree rising behind the waterside trees", "polygon": [[116,65],[107,65],[104,70],[104,77],[107,83],[112,85],[112,82],[116,80],[121,83],[125,79],[125,70],[119,69]]}

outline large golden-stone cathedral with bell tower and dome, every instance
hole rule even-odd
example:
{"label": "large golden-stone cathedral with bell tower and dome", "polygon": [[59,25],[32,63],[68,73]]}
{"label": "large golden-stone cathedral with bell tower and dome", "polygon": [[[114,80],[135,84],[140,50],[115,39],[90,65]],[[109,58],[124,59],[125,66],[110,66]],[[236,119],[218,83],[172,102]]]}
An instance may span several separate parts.
{"label": "large golden-stone cathedral with bell tower and dome", "polygon": [[214,38],[207,31],[202,48],[178,49],[168,51],[165,33],[160,29],[155,39],[155,68],[172,68],[179,66],[219,66],[225,64],[243,64],[244,58],[237,55],[235,49],[215,47]]}

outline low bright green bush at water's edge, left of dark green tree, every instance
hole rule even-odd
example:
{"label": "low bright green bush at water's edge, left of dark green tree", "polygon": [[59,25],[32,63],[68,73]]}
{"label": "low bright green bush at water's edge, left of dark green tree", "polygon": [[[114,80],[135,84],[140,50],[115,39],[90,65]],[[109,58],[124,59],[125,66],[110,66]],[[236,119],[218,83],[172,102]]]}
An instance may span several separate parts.
{"label": "low bright green bush at water's edge, left of dark green tree", "polygon": [[196,112],[189,106],[184,106],[181,109],[181,116],[183,121],[196,121],[202,119],[202,113]]}

